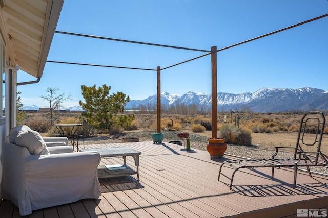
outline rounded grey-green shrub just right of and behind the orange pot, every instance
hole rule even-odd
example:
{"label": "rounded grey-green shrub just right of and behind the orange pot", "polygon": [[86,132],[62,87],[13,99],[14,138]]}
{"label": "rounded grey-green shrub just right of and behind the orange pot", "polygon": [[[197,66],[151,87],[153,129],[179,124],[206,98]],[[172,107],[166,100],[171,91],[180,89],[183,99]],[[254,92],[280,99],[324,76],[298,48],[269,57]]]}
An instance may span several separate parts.
{"label": "rounded grey-green shrub just right of and behind the orange pot", "polygon": [[220,129],[219,137],[226,138],[227,143],[245,145],[252,144],[251,131],[241,127],[233,127],[230,129],[230,126],[224,125]]}

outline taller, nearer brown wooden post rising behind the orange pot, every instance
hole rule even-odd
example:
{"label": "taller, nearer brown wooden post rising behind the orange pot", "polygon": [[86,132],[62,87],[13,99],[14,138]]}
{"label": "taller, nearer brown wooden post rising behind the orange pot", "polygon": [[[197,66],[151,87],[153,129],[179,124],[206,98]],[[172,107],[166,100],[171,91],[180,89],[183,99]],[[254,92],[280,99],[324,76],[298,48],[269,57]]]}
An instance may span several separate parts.
{"label": "taller, nearer brown wooden post rising behind the orange pot", "polygon": [[217,138],[217,60],[216,46],[211,47],[212,65],[212,138]]}

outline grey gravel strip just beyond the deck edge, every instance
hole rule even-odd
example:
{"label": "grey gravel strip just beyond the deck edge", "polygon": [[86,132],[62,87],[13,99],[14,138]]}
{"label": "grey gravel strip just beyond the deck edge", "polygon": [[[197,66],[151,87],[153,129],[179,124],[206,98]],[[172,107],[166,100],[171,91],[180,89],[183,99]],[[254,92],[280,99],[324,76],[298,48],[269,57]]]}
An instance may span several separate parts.
{"label": "grey gravel strip just beyond the deck edge", "polygon": [[[122,137],[137,137],[140,141],[152,141],[152,133],[154,131],[137,131],[137,132],[127,132],[122,134],[116,134],[111,136],[94,136],[90,138],[85,138],[85,144],[105,144],[105,143],[119,143]],[[164,141],[180,141],[176,136],[179,131],[164,131]],[[195,133],[189,133],[191,139],[190,146],[192,149],[198,149],[207,151],[206,143],[208,142],[207,136],[198,135]],[[185,146],[185,141],[182,141],[182,146]],[[274,149],[269,146],[262,146],[257,144],[256,146],[241,146],[237,144],[228,144],[226,154],[235,155],[245,158],[272,158],[275,153]],[[293,156],[292,152],[279,152],[276,158],[291,158]],[[311,170],[315,172],[328,174],[327,167],[311,167]]]}

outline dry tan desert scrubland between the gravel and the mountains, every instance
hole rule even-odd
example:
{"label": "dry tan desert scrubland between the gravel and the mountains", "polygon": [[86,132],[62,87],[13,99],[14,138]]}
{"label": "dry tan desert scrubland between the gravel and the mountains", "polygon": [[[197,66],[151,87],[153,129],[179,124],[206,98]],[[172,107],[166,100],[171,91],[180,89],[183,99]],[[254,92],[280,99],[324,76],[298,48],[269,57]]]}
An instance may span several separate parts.
{"label": "dry tan desert scrubland between the gravel and the mountains", "polygon": [[[23,124],[30,126],[32,129],[38,128],[39,132],[43,132],[43,136],[47,136],[48,127],[45,125],[49,119],[49,113],[27,113],[27,117]],[[77,122],[80,113],[55,113],[55,118],[61,120],[61,123],[74,123]],[[92,143],[93,138],[99,139],[101,136],[111,142],[120,142],[122,137],[140,137],[140,140],[151,141],[151,133],[156,132],[156,114],[139,114],[135,113],[135,121],[131,129],[121,130],[115,134],[108,134],[104,131],[92,131],[92,135],[88,137],[87,143]],[[223,125],[235,125],[236,116],[230,117],[226,115],[226,123],[224,123],[224,113],[218,113],[218,130]],[[275,146],[295,146],[297,139],[297,132],[302,113],[240,113],[240,127],[248,129],[251,132],[252,146],[257,149],[273,150]],[[162,132],[167,135],[165,140],[176,140],[176,134],[179,132],[188,132],[195,136],[192,144],[194,148],[201,150],[206,149],[207,138],[212,136],[211,130],[203,132],[193,132],[192,126],[195,123],[201,123],[205,126],[211,125],[210,114],[162,114],[161,116]],[[231,118],[231,119],[230,119]],[[173,121],[173,125],[172,122]],[[173,131],[169,131],[167,126],[172,126]],[[327,124],[326,124],[327,126]],[[166,131],[166,130],[168,131]],[[43,131],[42,131],[43,130]],[[261,130],[261,132],[254,132],[254,130]],[[283,131],[282,131],[283,130]],[[219,133],[219,131],[218,131]],[[322,139],[321,150],[323,153],[328,154],[328,128],[325,128],[325,134]],[[103,143],[101,140],[95,143]],[[106,139],[106,140],[105,140]],[[242,145],[241,145],[242,146]]]}

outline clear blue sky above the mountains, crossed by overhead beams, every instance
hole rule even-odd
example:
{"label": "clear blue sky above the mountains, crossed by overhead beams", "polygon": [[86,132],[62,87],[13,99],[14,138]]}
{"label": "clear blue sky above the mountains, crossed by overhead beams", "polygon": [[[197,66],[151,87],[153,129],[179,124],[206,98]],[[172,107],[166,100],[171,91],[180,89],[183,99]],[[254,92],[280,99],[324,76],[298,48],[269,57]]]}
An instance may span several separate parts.
{"label": "clear blue sky above the mountains, crossed by overhead beams", "polygon": [[[57,31],[211,50],[248,40],[328,13],[327,0],[65,0]],[[206,54],[56,33],[49,61],[156,69]],[[262,87],[328,90],[328,17],[217,54],[218,91]],[[35,80],[22,70],[18,82]],[[81,85],[111,86],[130,99],[156,94],[156,71],[46,63],[40,82],[18,86],[26,106],[48,106],[48,87],[83,100]],[[161,92],[211,93],[211,57],[161,72]]]}

